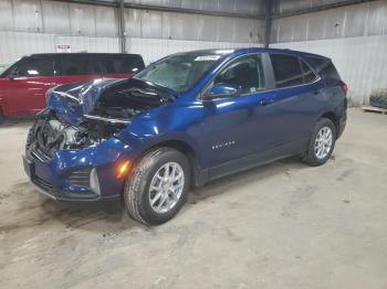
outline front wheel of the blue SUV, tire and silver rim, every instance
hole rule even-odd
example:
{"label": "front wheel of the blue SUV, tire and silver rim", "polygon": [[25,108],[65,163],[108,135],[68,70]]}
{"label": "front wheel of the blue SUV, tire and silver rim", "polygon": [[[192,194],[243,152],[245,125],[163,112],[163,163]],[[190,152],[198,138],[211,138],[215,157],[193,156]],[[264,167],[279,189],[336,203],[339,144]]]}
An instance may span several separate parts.
{"label": "front wheel of the blue SUV, tire and silver rim", "polygon": [[144,224],[163,224],[180,211],[189,182],[189,162],[181,152],[171,148],[150,151],[126,181],[126,211]]}

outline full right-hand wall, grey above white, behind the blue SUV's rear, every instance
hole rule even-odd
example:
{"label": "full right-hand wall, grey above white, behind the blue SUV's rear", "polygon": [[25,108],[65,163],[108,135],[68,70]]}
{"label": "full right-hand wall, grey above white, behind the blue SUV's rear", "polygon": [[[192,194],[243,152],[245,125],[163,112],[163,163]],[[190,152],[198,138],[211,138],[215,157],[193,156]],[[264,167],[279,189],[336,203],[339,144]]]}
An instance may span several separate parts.
{"label": "full right-hand wall, grey above white, behind the blue SUV's rear", "polygon": [[[281,0],[274,11],[289,12],[324,2],[333,1]],[[271,47],[331,57],[349,86],[353,105],[367,104],[372,89],[387,88],[387,1],[275,19],[271,42]]]}

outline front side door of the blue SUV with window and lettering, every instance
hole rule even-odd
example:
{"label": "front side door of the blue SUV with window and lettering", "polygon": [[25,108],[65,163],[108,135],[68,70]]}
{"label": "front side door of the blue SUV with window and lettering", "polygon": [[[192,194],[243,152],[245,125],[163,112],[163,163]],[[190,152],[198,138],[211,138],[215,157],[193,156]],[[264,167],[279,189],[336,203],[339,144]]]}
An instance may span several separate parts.
{"label": "front side door of the blue SUV with window and lettering", "polygon": [[[203,103],[202,122],[207,152],[206,167],[238,160],[258,151],[259,137],[266,128],[257,124],[257,107],[266,88],[263,54],[249,54],[231,61],[215,77],[213,84],[239,88],[236,96]],[[270,137],[270,136],[269,136]]]}

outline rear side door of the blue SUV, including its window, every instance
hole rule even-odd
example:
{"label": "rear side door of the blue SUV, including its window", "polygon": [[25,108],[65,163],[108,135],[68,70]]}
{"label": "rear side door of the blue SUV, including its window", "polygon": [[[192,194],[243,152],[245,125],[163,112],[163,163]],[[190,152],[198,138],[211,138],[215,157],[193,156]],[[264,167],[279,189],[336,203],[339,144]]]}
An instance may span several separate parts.
{"label": "rear side door of the blue SUV, including its window", "polygon": [[272,146],[306,141],[324,98],[324,84],[296,55],[270,54],[275,90],[268,104],[276,114]]}

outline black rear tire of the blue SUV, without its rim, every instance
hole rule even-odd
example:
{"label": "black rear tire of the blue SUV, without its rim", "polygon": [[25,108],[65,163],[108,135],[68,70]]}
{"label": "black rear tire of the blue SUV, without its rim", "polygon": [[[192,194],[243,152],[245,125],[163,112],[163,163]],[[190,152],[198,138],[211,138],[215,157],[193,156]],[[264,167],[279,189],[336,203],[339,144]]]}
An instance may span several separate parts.
{"label": "black rear tire of the blue SUV, without its rim", "polygon": [[[324,158],[318,158],[315,152],[315,142],[316,142],[316,137],[318,131],[324,127],[328,127],[332,131],[332,144],[328,153]],[[328,118],[320,119],[311,132],[310,141],[307,143],[307,148],[304,153],[303,161],[312,167],[324,164],[332,156],[332,152],[335,148],[336,138],[337,138],[336,127],[332,122],[332,120]]]}

